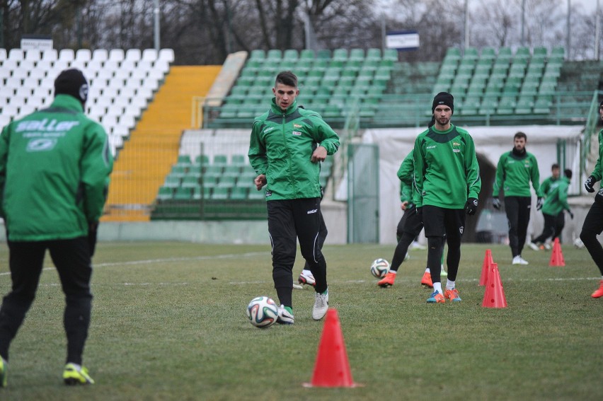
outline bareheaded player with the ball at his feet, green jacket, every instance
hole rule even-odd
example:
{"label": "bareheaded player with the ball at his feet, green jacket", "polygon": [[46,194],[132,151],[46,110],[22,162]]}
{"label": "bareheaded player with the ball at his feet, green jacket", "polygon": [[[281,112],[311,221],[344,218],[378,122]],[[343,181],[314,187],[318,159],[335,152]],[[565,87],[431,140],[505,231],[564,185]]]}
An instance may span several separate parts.
{"label": "bareheaded player with the ball at his feet, green jacket", "polygon": [[294,322],[292,289],[297,240],[316,280],[312,318],[328,309],[326,261],[318,246],[321,215],[319,162],[339,148],[339,136],[317,112],[297,106],[297,76],[280,72],[272,88],[270,110],[255,117],[249,161],[255,187],[267,185],[268,233],[272,243],[272,279],[280,301],[278,322]]}

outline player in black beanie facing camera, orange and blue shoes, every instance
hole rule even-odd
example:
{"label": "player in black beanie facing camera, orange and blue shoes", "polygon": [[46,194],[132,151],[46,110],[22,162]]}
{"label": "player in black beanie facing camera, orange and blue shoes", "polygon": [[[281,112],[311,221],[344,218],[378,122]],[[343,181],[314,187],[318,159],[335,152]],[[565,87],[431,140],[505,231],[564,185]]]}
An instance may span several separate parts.
{"label": "player in black beanie facing camera, orange and blue shoes", "polygon": [[[435,124],[415,139],[414,202],[425,226],[427,267],[430,268],[433,293],[428,303],[461,301],[456,290],[456,274],[461,260],[461,236],[465,214],[478,207],[481,179],[473,138],[450,119],[454,98],[440,92],[432,103]],[[440,255],[444,239],[448,243],[448,279],[446,291],[440,281]]]}

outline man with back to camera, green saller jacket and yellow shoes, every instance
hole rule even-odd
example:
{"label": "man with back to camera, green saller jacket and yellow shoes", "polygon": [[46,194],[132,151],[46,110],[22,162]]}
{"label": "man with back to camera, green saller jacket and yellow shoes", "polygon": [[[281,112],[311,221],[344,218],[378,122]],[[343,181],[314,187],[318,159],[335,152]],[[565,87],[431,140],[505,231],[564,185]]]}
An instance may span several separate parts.
{"label": "man with back to camera, green saller jacket and yellow shoes", "polygon": [[12,280],[0,307],[2,387],[8,348],[35,298],[46,250],[65,294],[64,383],[94,383],[81,364],[90,325],[91,257],[113,157],[103,127],[84,115],[87,98],[84,74],[62,71],[50,107],[11,122],[0,136],[0,214]]}

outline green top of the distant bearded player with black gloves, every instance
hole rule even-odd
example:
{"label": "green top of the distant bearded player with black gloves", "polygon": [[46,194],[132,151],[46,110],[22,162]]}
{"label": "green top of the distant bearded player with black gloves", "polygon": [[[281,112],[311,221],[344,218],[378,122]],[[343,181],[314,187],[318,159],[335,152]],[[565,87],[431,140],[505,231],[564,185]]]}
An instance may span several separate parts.
{"label": "green top of the distant bearded player with black gloves", "polygon": [[542,197],[540,190],[540,173],[538,162],[532,153],[516,156],[513,151],[503,153],[498,160],[496,178],[494,180],[493,197],[498,197],[500,188],[505,189],[505,197],[529,197],[529,182],[536,191],[537,197]]}

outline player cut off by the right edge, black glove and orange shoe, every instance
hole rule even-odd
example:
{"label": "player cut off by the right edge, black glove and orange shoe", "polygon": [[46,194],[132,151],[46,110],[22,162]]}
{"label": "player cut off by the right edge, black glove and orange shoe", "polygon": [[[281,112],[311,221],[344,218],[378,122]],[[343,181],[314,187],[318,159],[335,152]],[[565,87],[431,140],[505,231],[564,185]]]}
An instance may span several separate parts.
{"label": "player cut off by the right edge, black glove and orange shoe", "polygon": [[[599,103],[599,117],[603,120],[603,102]],[[584,187],[588,192],[595,192],[595,182],[603,178],[603,129],[599,131],[599,158],[595,164],[595,169],[590,173],[589,178],[584,182]],[[603,190],[599,190],[595,195],[595,202],[590,206],[584,224],[582,224],[582,232],[580,240],[584,243],[586,249],[590,253],[590,257],[599,267],[601,272],[601,281],[599,281],[599,289],[592,293],[592,298],[601,298],[603,296],[603,247],[597,235],[603,231]]]}

